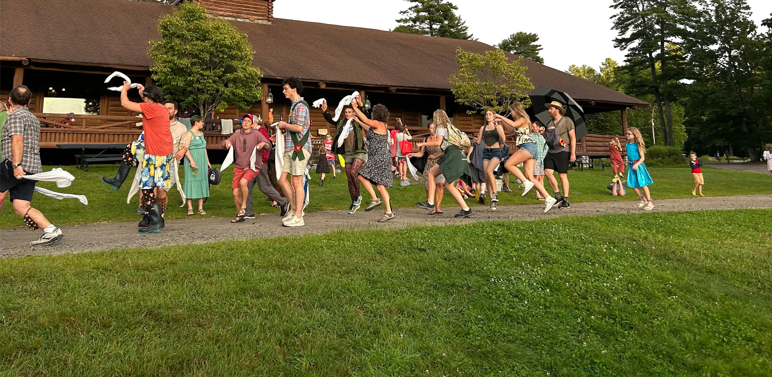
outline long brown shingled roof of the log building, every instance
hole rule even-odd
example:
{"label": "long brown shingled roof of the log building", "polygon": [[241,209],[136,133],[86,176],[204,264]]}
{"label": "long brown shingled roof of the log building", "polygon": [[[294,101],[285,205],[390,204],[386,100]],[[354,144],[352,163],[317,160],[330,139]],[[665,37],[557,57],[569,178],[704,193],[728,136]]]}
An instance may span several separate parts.
{"label": "long brown shingled roof of the log building", "polygon": [[[63,60],[121,66],[151,66],[151,39],[158,40],[157,19],[173,12],[169,5],[131,0],[5,0],[0,23],[5,35],[0,56]],[[365,85],[450,89],[457,71],[455,49],[485,52],[482,42],[462,41],[274,19],[271,25],[232,22],[249,35],[254,64],[267,77],[350,82]],[[516,59],[516,56],[512,56]],[[648,106],[604,86],[524,60],[533,86],[547,86],[574,99]]]}

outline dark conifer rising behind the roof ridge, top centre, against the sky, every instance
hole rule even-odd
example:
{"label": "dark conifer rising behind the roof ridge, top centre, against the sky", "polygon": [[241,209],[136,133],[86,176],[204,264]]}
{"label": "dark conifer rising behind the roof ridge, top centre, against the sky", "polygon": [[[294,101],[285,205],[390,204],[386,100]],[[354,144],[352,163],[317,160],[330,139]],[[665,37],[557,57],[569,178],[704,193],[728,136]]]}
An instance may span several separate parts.
{"label": "dark conifer rising behind the roof ridge, top centre, against the sky", "polygon": [[472,39],[469,27],[455,14],[458,8],[447,0],[416,0],[397,20],[400,25],[394,32]]}

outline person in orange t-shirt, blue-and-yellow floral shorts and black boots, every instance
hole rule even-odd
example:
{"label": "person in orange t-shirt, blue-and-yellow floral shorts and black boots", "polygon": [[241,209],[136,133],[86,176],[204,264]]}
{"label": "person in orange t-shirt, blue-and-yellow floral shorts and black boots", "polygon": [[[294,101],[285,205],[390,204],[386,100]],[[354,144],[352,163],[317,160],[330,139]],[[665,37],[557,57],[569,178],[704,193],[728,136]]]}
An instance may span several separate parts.
{"label": "person in orange t-shirt, blue-and-yellow floral shorts and black boots", "polygon": [[[169,175],[169,163],[174,150],[171,130],[169,130],[169,110],[161,103],[164,102],[164,93],[157,86],[138,86],[142,103],[134,103],[129,100],[127,92],[130,82],[124,81],[124,87],[120,91],[120,106],[142,113],[142,128],[144,129],[144,161],[141,163],[140,190],[147,212],[140,221],[140,233],[153,233],[161,231],[164,227],[164,218],[161,216],[161,204],[158,200],[166,199],[166,191],[171,187]],[[155,190],[158,187],[158,190]],[[142,227],[142,225],[147,225]]]}

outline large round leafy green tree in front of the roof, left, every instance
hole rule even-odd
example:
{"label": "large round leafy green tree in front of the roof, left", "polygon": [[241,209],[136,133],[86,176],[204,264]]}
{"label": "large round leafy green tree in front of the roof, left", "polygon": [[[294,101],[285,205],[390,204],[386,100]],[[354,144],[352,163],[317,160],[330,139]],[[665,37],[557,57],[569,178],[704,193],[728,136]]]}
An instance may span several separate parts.
{"label": "large round leafy green tree in front of the roof, left", "polygon": [[205,115],[228,106],[249,109],[262,98],[255,52],[229,22],[186,2],[158,21],[158,32],[163,41],[151,41],[152,76],[181,106],[196,106]]}

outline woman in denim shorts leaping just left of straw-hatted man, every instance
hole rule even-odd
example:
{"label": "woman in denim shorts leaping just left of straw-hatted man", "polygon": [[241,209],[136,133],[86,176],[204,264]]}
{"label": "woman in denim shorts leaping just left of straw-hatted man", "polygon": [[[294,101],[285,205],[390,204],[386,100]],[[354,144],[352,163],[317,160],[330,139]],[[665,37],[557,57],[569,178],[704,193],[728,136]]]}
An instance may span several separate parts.
{"label": "woman in denim shorts leaping just left of straw-hatted man", "polygon": [[[536,167],[536,159],[539,152],[537,151],[536,142],[534,142],[533,137],[530,136],[530,117],[523,108],[523,105],[516,102],[510,105],[510,115],[514,120],[496,114],[496,119],[499,120],[499,122],[502,122],[503,126],[505,126],[508,131],[516,134],[515,143],[517,144],[517,150],[512,154],[509,160],[506,160],[504,167],[523,182],[523,186],[525,187],[523,190],[523,197],[528,194],[530,189],[536,187],[537,192],[545,198],[544,213],[546,214],[547,211],[557,203],[557,200],[547,194],[547,190],[544,190],[543,183],[540,183],[536,177],[533,177],[533,169]],[[519,163],[523,163],[523,170],[526,172],[525,175],[517,168]]]}

